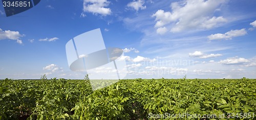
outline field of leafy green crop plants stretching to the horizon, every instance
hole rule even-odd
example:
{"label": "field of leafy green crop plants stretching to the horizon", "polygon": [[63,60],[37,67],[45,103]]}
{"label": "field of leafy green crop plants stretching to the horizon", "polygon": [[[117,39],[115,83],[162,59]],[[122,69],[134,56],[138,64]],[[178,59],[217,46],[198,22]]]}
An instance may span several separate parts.
{"label": "field of leafy green crop plants stretching to the horizon", "polygon": [[6,79],[0,119],[255,119],[255,85],[246,78],[134,79],[93,91],[89,80]]}

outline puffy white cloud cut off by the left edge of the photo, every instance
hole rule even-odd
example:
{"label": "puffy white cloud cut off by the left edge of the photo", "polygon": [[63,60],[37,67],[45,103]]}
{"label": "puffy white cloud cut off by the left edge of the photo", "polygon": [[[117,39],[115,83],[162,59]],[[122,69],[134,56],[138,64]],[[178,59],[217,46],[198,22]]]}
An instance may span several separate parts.
{"label": "puffy white cloud cut off by the left edge of the photo", "polygon": [[18,31],[3,31],[0,29],[0,40],[3,39],[10,39],[10,40],[16,40],[17,43],[23,44],[22,40],[20,40],[20,37],[23,37],[25,35],[20,34]]}

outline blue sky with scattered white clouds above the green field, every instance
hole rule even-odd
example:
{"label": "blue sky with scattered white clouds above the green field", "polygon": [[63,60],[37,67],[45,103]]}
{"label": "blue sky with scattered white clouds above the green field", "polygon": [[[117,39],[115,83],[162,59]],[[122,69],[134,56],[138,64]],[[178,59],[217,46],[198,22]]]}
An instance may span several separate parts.
{"label": "blue sky with scattered white clouds above the green field", "polygon": [[128,79],[255,78],[255,6],[254,0],[56,0],[6,17],[1,4],[0,79],[82,79],[84,73],[69,69],[65,45],[97,28],[106,47],[123,49]]}

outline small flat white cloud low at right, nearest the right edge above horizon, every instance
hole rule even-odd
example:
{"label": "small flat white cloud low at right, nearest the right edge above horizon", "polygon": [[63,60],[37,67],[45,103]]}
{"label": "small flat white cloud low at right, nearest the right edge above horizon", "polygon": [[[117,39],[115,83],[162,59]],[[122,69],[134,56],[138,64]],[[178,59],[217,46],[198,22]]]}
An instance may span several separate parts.
{"label": "small flat white cloud low at right, nearest the right edge above horizon", "polygon": [[219,63],[221,63],[221,64],[239,64],[239,63],[248,63],[248,62],[250,62],[250,61],[245,58],[232,57],[232,58],[227,58],[225,60],[221,60]]}

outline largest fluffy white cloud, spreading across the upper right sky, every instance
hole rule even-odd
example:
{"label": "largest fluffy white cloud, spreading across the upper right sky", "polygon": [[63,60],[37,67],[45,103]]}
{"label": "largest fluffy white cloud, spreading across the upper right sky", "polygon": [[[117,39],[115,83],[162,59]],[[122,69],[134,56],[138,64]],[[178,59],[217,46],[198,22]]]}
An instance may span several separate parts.
{"label": "largest fluffy white cloud, spreading across the upper right sky", "polygon": [[211,29],[226,22],[223,16],[212,16],[226,0],[186,0],[171,4],[172,11],[158,10],[152,16],[156,17],[155,28],[171,25],[171,32],[185,30]]}

